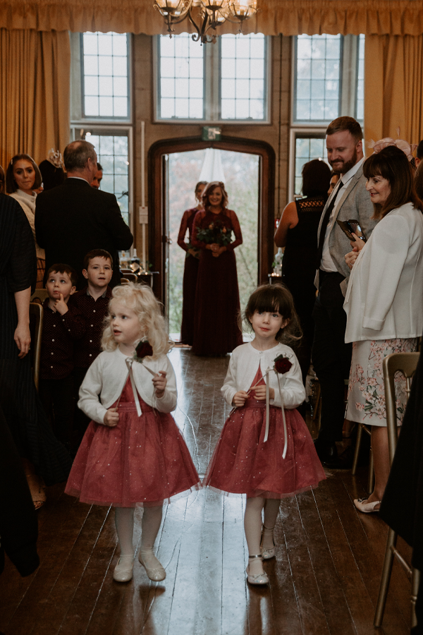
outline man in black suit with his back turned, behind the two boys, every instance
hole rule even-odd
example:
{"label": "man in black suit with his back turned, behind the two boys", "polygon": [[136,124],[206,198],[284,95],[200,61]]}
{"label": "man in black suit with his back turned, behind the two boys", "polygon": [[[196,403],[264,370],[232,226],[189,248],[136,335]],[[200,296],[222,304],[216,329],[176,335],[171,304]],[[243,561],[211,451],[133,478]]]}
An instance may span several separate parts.
{"label": "man in black suit with his back turned, behind the two boys", "polygon": [[[63,153],[68,178],[63,185],[43,192],[35,207],[37,243],[46,252],[46,272],[56,262],[65,262],[82,277],[85,254],[105,249],[113,257],[110,286],[120,284],[118,250],[128,250],[133,235],[122,218],[116,196],[90,187],[97,173],[94,145],[73,141]],[[46,279],[44,277],[44,286]]]}

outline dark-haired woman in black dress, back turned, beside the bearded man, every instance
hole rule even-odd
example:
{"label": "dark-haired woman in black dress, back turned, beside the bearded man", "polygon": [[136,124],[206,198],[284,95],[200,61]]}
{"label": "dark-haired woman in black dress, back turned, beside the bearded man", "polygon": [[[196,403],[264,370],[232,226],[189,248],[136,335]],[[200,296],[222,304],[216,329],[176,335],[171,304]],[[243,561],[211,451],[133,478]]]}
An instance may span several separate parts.
{"label": "dark-haired woman in black dress, back turned, beside the bearded man", "polygon": [[285,247],[282,259],[282,279],[294,298],[303,333],[300,349],[295,351],[300,362],[302,379],[309,369],[314,322],[312,312],[316,299],[317,229],[321,212],[328,199],[331,169],[319,159],[302,168],[304,198],[290,202],[282,212],[276,229],[276,246]]}

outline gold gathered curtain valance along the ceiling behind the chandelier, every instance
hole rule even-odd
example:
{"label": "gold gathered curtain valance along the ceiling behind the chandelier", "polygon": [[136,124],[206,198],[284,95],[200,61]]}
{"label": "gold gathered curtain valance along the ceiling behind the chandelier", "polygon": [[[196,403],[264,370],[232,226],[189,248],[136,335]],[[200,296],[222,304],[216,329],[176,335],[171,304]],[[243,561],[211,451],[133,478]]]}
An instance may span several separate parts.
{"label": "gold gathered curtain valance along the ceiling behind the chandelier", "polygon": [[[0,28],[166,33],[153,0],[0,0]],[[423,0],[258,0],[243,32],[422,35]],[[189,29],[188,21],[176,32]],[[226,22],[219,33],[237,32]]]}

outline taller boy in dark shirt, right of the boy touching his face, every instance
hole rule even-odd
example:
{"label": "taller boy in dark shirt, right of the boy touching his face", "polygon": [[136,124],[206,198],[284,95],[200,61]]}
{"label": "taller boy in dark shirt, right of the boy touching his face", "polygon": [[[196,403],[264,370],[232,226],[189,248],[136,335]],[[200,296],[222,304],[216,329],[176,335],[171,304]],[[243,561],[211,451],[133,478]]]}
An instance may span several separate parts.
{"label": "taller boy in dark shirt, right of the boy touching his face", "polygon": [[[73,306],[87,323],[84,337],[75,344],[73,383],[77,402],[85,373],[102,352],[104,317],[108,313],[111,298],[111,287],[108,285],[113,274],[113,260],[109,252],[93,249],[87,253],[82,274],[87,279],[87,286],[72,297]],[[74,421],[82,434],[90,423],[90,419],[78,408],[75,409]]]}

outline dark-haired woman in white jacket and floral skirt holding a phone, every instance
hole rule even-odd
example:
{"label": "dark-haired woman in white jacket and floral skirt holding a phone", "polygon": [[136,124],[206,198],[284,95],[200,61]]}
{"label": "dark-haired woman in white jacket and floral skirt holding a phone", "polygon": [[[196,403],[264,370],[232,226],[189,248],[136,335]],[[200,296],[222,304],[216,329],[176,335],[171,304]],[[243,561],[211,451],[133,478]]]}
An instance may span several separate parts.
{"label": "dark-haired woman in white jacket and floral skirt holding a phone", "polygon": [[[423,332],[423,203],[403,150],[384,147],[364,162],[366,188],[379,219],[367,243],[351,243],[352,269],[345,295],[345,342],[353,342],[348,411],[350,421],[372,425],[374,492],[356,499],[361,512],[375,512],[389,474],[382,361],[390,353],[417,349]],[[405,410],[405,381],[396,381],[398,422]]]}

